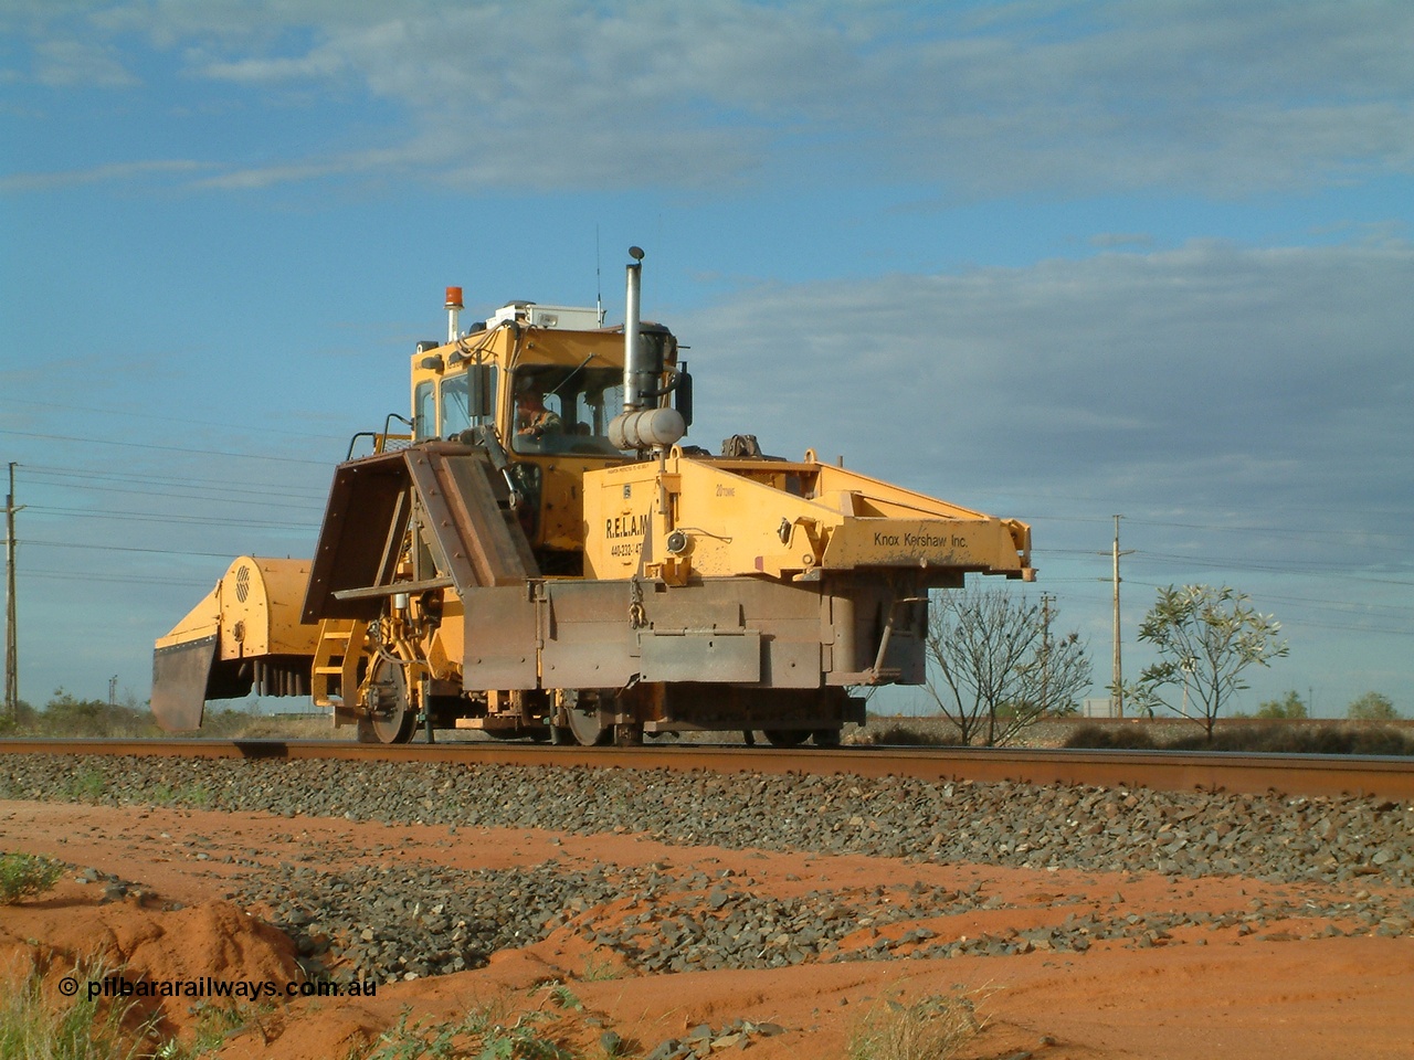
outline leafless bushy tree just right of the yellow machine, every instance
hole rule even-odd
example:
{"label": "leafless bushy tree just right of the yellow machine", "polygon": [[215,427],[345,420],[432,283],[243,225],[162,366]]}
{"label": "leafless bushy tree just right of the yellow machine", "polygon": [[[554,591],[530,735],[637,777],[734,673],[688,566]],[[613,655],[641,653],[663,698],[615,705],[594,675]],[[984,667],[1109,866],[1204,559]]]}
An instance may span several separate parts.
{"label": "leafless bushy tree just right of the yellow machine", "polygon": [[1004,591],[945,589],[928,605],[925,685],[962,743],[1001,746],[1048,714],[1065,712],[1090,684],[1076,632],[1052,637],[1039,603]]}

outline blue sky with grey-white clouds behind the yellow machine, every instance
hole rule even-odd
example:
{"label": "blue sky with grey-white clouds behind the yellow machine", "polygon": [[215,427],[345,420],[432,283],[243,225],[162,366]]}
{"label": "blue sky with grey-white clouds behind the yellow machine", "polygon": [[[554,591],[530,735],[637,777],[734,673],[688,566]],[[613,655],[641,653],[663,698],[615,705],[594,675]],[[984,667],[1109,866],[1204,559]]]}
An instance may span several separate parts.
{"label": "blue sky with grey-white clouds behind the yellow machine", "polygon": [[1031,522],[1102,683],[1121,513],[1128,676],[1230,584],[1239,708],[1414,715],[1411,213],[1401,0],[0,0],[21,697],[308,554],[444,287],[621,319],[638,243],[693,441]]}

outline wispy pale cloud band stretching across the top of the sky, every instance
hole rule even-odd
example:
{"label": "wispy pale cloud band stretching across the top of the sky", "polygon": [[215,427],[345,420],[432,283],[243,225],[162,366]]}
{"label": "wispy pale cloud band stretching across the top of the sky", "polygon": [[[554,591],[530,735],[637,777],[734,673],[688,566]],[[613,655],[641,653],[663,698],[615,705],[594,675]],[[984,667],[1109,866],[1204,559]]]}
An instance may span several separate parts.
{"label": "wispy pale cloud band stretching across the top of the sky", "polygon": [[[49,23],[35,49],[55,85],[83,69],[123,83],[140,57],[116,49],[140,31],[229,92],[363,93],[402,114],[365,140],[389,167],[437,144],[421,172],[468,187],[855,170],[967,196],[1241,195],[1414,171],[1403,4],[255,7],[124,3]],[[327,154],[273,160],[260,179],[361,171],[358,153]]]}

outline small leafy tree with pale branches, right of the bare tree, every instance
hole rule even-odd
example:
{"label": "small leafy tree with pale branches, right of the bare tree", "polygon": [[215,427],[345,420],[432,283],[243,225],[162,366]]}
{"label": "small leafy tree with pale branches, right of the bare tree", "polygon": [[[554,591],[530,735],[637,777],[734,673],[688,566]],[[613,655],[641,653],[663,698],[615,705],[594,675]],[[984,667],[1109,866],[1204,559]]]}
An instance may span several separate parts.
{"label": "small leafy tree with pale branches, right of the bare tree", "polygon": [[1140,626],[1140,640],[1158,649],[1159,661],[1144,667],[1131,694],[1141,708],[1182,714],[1171,701],[1181,688],[1212,739],[1223,705],[1247,687],[1241,671],[1254,663],[1271,666],[1273,659],[1287,654],[1280,632],[1275,618],[1258,615],[1246,594],[1226,585],[1169,585],[1158,591]]}

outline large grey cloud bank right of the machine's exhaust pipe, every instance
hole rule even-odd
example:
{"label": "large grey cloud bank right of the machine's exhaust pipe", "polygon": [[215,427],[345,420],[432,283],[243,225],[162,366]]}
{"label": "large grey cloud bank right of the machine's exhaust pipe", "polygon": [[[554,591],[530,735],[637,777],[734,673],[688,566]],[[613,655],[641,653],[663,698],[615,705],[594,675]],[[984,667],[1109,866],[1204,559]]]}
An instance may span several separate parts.
{"label": "large grey cloud bank right of the machine's exhaust pipe", "polygon": [[710,444],[772,424],[912,485],[1414,509],[1410,290],[1408,245],[1193,243],[745,291],[680,329]]}

